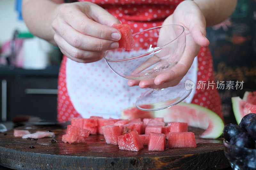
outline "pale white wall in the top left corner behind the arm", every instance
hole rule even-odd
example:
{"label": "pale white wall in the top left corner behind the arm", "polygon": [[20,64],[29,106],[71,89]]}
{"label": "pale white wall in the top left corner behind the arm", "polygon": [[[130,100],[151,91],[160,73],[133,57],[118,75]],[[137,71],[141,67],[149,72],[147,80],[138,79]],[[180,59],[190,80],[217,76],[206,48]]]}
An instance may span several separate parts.
{"label": "pale white wall in the top left corner behind the arm", "polygon": [[15,0],[0,0],[0,45],[11,39],[14,30],[28,31],[23,21],[18,20]]}

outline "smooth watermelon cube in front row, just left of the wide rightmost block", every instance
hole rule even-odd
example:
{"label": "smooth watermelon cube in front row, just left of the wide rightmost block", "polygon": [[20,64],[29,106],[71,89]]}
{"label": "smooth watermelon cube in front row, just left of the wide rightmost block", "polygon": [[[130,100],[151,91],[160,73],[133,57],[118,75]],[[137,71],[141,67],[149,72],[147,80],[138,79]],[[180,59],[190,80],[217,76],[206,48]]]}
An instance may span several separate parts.
{"label": "smooth watermelon cube in front row, just left of the wide rightmost block", "polygon": [[148,151],[164,151],[165,145],[165,134],[155,132],[149,133]]}

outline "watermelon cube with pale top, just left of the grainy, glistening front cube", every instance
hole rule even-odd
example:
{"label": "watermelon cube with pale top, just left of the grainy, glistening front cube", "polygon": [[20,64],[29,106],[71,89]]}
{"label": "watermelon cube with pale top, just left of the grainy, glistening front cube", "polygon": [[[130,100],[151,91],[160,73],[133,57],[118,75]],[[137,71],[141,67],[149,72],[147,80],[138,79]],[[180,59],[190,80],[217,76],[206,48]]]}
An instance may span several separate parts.
{"label": "watermelon cube with pale top, just left of the grainy, glistening front cube", "polygon": [[102,126],[102,132],[107,144],[118,144],[118,136],[121,135],[119,126]]}

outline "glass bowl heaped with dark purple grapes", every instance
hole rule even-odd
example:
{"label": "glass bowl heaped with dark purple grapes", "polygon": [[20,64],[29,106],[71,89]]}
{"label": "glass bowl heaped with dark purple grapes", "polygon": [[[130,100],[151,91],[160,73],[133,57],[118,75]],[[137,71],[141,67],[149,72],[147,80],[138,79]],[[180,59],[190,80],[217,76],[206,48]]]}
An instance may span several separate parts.
{"label": "glass bowl heaped with dark purple grapes", "polygon": [[224,154],[235,170],[256,169],[256,114],[245,115],[239,125],[223,129]]}

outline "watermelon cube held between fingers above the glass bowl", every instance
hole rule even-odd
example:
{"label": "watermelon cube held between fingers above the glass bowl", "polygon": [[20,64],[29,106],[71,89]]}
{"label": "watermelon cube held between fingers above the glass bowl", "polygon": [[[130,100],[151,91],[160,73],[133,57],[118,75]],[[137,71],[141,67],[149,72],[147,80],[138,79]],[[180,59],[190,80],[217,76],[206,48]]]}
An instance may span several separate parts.
{"label": "watermelon cube held between fingers above the glass bowl", "polygon": [[113,24],[112,27],[118,29],[122,34],[121,39],[118,41],[119,48],[130,51],[134,46],[131,27],[127,24]]}

